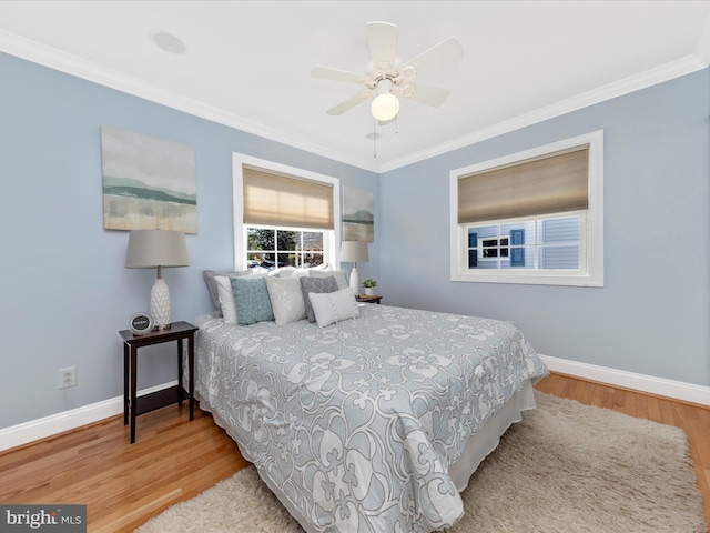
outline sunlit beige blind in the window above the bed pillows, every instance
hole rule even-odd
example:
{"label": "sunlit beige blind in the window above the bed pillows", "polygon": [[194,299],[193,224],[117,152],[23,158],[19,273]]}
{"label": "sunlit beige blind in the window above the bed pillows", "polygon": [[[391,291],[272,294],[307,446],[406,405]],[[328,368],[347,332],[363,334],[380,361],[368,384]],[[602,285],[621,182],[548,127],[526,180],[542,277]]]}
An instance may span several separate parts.
{"label": "sunlit beige blind in the window above the bed pillows", "polygon": [[332,230],[333,185],[243,165],[244,223]]}

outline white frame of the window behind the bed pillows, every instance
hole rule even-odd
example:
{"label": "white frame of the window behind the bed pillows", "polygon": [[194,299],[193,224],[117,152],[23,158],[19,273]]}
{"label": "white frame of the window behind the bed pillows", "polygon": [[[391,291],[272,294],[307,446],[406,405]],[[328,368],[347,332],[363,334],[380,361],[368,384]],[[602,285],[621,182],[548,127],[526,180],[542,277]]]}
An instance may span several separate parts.
{"label": "white frame of the window behind the bed pillows", "polygon": [[[246,270],[246,225],[244,224],[244,165],[256,167],[266,171],[280,172],[295,178],[320,181],[333,185],[333,220],[335,228],[333,230],[315,229],[313,231],[323,231],[323,262],[333,265],[334,270],[339,270],[339,247],[341,242],[341,180],[331,175],[318,174],[308,170],[288,167],[286,164],[275,163],[265,159],[253,158],[243,153],[232,153],[232,212],[234,220],[234,270]],[[280,228],[285,229],[285,228]],[[311,231],[311,228],[293,228],[301,231]]]}

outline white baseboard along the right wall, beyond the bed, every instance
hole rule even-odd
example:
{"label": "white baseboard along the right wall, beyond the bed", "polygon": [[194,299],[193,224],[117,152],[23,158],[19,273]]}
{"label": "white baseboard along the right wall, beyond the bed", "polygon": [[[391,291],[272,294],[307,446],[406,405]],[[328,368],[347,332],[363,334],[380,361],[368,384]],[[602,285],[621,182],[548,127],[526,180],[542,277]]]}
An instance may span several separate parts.
{"label": "white baseboard along the right wall, beyond the bed", "polygon": [[567,359],[540,355],[547,368],[561,374],[575,375],[586,380],[608,383],[609,385],[633,389],[648,392],[658,396],[672,398],[684,402],[698,403],[710,406],[710,388],[683,383],[681,381],[666,380],[652,375],[636,374],[623,370],[608,369],[595,364],[578,363]]}

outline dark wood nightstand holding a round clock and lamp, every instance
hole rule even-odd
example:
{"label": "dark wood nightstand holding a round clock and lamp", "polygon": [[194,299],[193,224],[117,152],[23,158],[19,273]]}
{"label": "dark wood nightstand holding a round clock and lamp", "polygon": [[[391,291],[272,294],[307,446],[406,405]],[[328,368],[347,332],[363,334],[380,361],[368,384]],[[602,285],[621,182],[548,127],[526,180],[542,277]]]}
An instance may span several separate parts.
{"label": "dark wood nightstand holding a round clock and lamp", "polygon": [[[129,423],[131,413],[131,444],[135,442],[135,416],[173,403],[182,406],[190,401],[190,420],[194,419],[194,364],[195,331],[189,322],[173,322],[168,330],[154,330],[145,335],[134,335],[129,330],[120,331],[123,338],[123,424]],[[183,386],[183,341],[187,340],[187,389]],[[139,348],[178,341],[178,384],[158,392],[138,396],[138,350]]]}

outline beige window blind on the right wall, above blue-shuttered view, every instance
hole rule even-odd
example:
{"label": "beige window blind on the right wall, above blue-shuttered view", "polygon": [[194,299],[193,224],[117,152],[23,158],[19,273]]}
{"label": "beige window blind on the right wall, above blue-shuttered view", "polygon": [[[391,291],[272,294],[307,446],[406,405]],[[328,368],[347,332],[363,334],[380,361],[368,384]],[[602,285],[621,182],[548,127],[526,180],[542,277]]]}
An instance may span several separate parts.
{"label": "beige window blind on the right wall, above blue-shuttered view", "polygon": [[588,208],[589,147],[464,175],[458,223]]}

